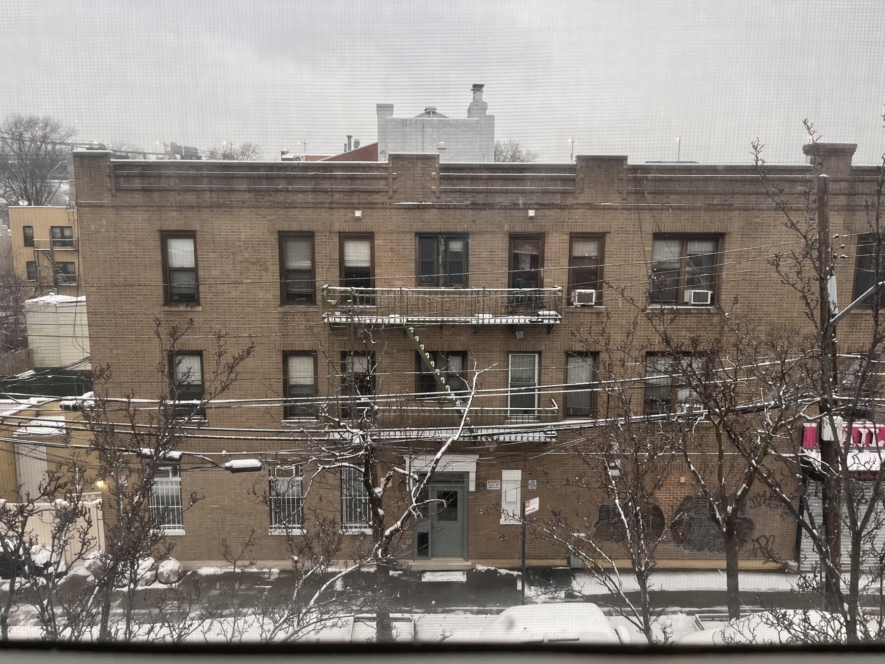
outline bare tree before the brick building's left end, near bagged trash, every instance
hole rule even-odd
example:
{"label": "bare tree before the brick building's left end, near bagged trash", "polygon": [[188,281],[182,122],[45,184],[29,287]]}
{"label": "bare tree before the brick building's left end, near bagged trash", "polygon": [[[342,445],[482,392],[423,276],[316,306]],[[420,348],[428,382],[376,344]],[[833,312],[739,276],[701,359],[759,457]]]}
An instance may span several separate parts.
{"label": "bare tree before the brick building's left end, near bagged trash", "polygon": [[[92,436],[90,452],[95,454],[98,474],[107,478],[108,506],[105,552],[102,573],[96,583],[96,602],[101,607],[98,638],[119,637],[130,640],[136,636],[133,622],[135,588],[143,574],[144,561],[151,556],[162,559],[172,551],[162,521],[165,514],[151,509],[153,488],[161,467],[179,459],[178,449],[194,429],[202,426],[206,404],[231,388],[238,377],[240,365],[254,352],[249,344],[239,351],[227,350],[226,336],[215,335],[211,371],[204,378],[204,392],[196,403],[182,399],[176,377],[175,351],[188,335],[193,321],[173,325],[164,330],[155,320],[155,336],[160,345],[157,371],[169,392],[143,405],[139,400],[110,398],[107,388],[83,402],[82,419]],[[110,380],[106,367],[96,370],[96,384]],[[177,379],[178,378],[178,379]],[[183,382],[187,382],[187,377]],[[122,421],[120,421],[122,420]],[[200,496],[192,494],[182,500],[181,510],[196,504]],[[123,625],[114,629],[111,623],[112,598],[115,588],[125,589]]]}

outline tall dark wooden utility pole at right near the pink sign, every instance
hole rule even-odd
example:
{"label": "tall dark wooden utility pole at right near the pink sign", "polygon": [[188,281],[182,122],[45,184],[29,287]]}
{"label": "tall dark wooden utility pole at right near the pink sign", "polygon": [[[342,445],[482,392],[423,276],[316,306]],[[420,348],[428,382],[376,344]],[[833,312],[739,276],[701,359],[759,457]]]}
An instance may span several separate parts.
{"label": "tall dark wooden utility pole at right near the pink sign", "polygon": [[[840,435],[832,431],[835,440],[826,440],[824,436],[824,424],[830,420],[832,404],[829,397],[832,396],[835,385],[836,372],[836,347],[835,347],[835,323],[832,306],[830,305],[830,279],[832,275],[832,260],[830,257],[829,243],[829,208],[828,208],[828,184],[827,175],[818,175],[816,189],[818,196],[818,269],[819,298],[820,298],[820,344],[821,361],[823,371],[821,375],[820,389],[822,394],[818,400],[818,448],[820,449],[820,465],[824,473],[824,482],[821,487],[823,502],[823,527],[824,541],[827,544],[827,562],[824,567],[824,602],[825,606],[832,610],[838,605],[842,559],[842,495],[839,478],[840,455],[838,440]],[[832,428],[827,428],[832,429]]]}

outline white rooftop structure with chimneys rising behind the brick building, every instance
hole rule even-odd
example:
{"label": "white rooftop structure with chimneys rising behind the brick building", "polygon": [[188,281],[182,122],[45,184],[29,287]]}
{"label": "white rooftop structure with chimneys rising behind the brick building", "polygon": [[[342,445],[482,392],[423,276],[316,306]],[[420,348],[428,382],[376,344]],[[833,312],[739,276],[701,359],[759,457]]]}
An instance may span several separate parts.
{"label": "white rooftop structure with chimneys rising behind the brick building", "polygon": [[486,113],[482,88],[473,85],[466,118],[446,117],[435,106],[414,118],[395,118],[393,104],[378,104],[378,160],[387,161],[391,153],[438,152],[440,161],[495,161],[495,116]]}

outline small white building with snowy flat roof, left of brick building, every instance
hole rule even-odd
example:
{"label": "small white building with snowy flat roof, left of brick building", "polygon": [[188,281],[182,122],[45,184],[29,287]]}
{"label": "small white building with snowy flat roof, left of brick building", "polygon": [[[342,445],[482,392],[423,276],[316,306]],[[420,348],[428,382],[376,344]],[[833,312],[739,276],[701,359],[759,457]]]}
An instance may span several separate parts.
{"label": "small white building with snowy flat roof, left of brick building", "polygon": [[27,300],[25,319],[35,368],[90,368],[85,295],[44,295]]}

